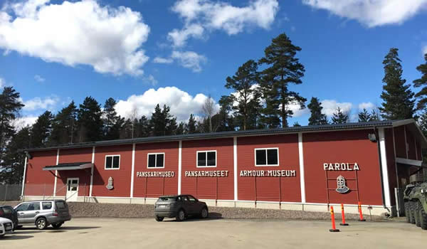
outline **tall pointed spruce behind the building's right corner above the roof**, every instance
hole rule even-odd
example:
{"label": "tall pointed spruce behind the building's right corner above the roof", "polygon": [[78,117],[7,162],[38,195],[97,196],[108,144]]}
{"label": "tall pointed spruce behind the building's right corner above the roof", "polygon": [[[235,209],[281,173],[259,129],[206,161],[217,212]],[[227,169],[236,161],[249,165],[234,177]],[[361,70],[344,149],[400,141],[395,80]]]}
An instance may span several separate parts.
{"label": "tall pointed spruce behind the building's right corner above the roof", "polygon": [[414,103],[413,92],[402,79],[402,66],[398,54],[399,49],[391,48],[384,58],[383,92],[381,99],[384,100],[379,108],[381,116],[387,120],[404,120],[413,118]]}

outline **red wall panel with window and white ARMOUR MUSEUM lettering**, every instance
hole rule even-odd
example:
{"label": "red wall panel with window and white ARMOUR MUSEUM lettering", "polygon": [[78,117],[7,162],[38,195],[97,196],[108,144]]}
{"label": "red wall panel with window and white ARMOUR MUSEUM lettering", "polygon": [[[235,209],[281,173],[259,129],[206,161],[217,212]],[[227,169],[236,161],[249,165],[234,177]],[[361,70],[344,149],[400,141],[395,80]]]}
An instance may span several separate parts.
{"label": "red wall panel with window and white ARMOUR MUSEUM lettering", "polygon": [[[257,201],[301,201],[297,134],[238,137],[237,144],[239,200],[254,201],[256,198]],[[279,166],[255,166],[255,149],[270,147],[279,148]],[[243,170],[295,170],[295,176],[280,179],[277,176],[256,177],[255,192],[255,177],[240,176]]]}

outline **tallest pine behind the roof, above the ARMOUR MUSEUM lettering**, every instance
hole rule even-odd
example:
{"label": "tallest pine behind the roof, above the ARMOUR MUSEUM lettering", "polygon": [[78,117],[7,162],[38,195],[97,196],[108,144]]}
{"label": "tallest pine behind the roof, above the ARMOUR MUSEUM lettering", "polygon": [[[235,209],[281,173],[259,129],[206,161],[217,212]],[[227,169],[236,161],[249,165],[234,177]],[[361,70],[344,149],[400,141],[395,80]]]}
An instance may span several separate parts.
{"label": "tallest pine behind the roof, above the ARMOUR MUSEUM lettering", "polygon": [[273,38],[271,45],[265,48],[265,57],[259,60],[260,64],[268,67],[260,75],[266,102],[263,120],[269,128],[278,127],[280,120],[282,127],[288,127],[287,119],[293,115],[288,108],[290,103],[296,102],[300,108],[305,108],[307,100],[288,88],[290,83],[301,84],[304,76],[304,65],[295,57],[298,51],[301,48],[294,46],[283,33]]}

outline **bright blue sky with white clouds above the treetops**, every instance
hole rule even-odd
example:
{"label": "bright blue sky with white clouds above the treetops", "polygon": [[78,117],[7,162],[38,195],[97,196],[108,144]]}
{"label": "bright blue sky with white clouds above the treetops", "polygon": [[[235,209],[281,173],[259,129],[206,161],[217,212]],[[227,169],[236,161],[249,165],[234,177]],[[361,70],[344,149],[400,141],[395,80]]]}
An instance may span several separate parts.
{"label": "bright blue sky with white clouds above the treetops", "polygon": [[[167,104],[179,120],[218,100],[246,60],[285,32],[302,48],[302,85],[327,115],[381,105],[382,60],[399,48],[404,78],[427,53],[427,1],[2,1],[0,85],[13,85],[31,123],[70,100],[113,97],[117,112],[148,115]],[[290,124],[307,124],[297,110]]]}

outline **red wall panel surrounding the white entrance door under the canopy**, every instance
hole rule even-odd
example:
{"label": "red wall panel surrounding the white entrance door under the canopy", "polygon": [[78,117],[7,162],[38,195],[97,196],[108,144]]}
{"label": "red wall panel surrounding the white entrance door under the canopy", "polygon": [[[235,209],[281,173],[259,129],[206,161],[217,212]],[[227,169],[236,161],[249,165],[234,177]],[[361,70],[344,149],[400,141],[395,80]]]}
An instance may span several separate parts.
{"label": "red wall panel surrounding the white entrance door under the canopy", "polygon": [[[91,162],[92,147],[78,149],[60,149],[59,163],[67,164],[74,162]],[[78,178],[78,196],[89,196],[90,189],[90,169],[60,170],[58,171],[58,181],[56,182],[56,196],[65,196],[68,178]]]}

